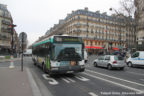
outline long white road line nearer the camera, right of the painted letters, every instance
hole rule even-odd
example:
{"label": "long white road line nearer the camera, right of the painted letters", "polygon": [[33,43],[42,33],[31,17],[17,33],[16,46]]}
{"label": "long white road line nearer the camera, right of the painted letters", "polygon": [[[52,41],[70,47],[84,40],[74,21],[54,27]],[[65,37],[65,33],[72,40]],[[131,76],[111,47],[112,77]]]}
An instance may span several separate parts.
{"label": "long white road line nearer the camera, right of the painted letters", "polygon": [[132,87],[129,87],[129,86],[126,86],[126,85],[123,85],[123,84],[120,84],[120,83],[116,83],[116,82],[113,82],[113,81],[110,81],[110,80],[107,80],[107,79],[104,79],[104,78],[101,78],[101,77],[98,77],[98,76],[94,76],[94,75],[91,75],[91,74],[88,74],[88,73],[83,73],[83,74],[88,75],[88,76],[93,77],[93,78],[96,78],[96,79],[100,79],[100,80],[103,80],[103,81],[112,83],[112,84],[115,84],[115,85],[117,85],[117,86],[121,86],[121,87],[130,89],[130,90],[136,91],[136,92],[138,92],[139,94],[143,93],[142,90],[139,90],[139,89],[136,89],[136,88],[132,88]]}

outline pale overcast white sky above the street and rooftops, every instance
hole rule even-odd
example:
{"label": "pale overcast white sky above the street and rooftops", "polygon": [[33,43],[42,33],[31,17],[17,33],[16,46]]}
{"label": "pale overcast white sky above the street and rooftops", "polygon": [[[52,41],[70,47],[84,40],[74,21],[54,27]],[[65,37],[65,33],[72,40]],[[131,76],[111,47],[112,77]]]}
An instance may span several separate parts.
{"label": "pale overcast white sky above the street and rooftops", "polygon": [[99,10],[101,13],[109,8],[119,8],[120,0],[0,0],[7,5],[13,23],[17,25],[16,32],[25,32],[29,45],[43,36],[47,30],[64,19],[73,10],[88,7],[89,11]]}

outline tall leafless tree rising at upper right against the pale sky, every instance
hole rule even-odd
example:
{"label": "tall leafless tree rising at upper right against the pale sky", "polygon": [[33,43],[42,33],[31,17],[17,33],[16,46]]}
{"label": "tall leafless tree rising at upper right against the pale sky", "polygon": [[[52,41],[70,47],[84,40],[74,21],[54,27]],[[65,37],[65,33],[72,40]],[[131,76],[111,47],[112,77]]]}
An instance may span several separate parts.
{"label": "tall leafless tree rising at upper right against the pale sky", "polygon": [[[134,5],[134,0],[120,0],[120,8],[119,9],[110,8],[111,11],[114,11],[116,16],[123,19],[123,22],[125,23],[127,32],[133,32],[133,28],[134,28],[134,30],[136,30],[136,28],[135,28],[136,23],[134,20],[135,9],[136,8]],[[129,38],[129,34],[131,34],[131,33],[126,33],[127,38]],[[135,40],[136,40],[136,38],[135,38]],[[128,39],[126,40],[126,45],[128,47],[130,45],[130,41]]]}

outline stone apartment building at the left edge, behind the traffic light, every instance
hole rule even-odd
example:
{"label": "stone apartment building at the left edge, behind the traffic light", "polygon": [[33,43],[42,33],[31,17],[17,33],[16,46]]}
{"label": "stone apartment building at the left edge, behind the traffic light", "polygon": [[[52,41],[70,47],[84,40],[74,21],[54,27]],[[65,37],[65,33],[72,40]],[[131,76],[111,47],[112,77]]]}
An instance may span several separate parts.
{"label": "stone apartment building at the left edge, behind the traffic light", "polygon": [[[9,29],[9,26],[12,24],[13,20],[10,12],[7,10],[7,6],[0,4],[0,55],[10,54],[12,32]],[[17,40],[16,38],[18,38],[16,34],[16,31],[14,31],[14,42]],[[14,45],[17,46],[16,43],[14,43]]]}

